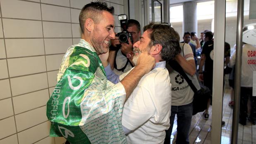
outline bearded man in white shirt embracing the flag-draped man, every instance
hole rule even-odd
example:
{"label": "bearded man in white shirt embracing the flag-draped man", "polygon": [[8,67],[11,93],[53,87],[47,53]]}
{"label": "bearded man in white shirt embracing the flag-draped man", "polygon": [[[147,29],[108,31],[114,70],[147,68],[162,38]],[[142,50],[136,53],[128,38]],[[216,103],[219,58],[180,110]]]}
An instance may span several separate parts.
{"label": "bearded man in white shirt embracing the flag-draped man", "polygon": [[[143,76],[138,86],[127,99],[123,109],[122,125],[129,144],[163,144],[165,130],[170,126],[171,84],[166,61],[180,53],[179,35],[168,25],[149,24],[144,27],[140,41],[134,47],[133,63],[137,64],[140,53],[148,52],[157,64]],[[103,61],[103,60],[101,60]],[[105,67],[107,78],[118,83],[120,77]],[[117,77],[116,77],[117,76]]]}

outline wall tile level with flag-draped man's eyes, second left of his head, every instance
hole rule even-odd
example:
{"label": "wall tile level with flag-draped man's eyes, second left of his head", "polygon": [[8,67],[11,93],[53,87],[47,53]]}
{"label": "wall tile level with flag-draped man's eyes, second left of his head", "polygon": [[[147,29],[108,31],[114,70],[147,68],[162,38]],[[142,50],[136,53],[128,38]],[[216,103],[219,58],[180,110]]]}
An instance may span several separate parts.
{"label": "wall tile level with flag-draped man's eyes, second left of his head", "polygon": [[45,38],[71,38],[71,24],[43,21]]}

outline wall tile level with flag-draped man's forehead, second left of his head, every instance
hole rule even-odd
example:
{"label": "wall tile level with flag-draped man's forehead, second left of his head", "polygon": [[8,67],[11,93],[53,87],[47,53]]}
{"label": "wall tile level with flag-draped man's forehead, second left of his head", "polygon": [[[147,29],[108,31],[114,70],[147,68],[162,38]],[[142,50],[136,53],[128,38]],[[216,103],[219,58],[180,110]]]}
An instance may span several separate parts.
{"label": "wall tile level with flag-draped man's forehead, second left of his head", "polygon": [[[51,0],[54,1],[54,0]],[[41,5],[43,21],[70,22],[70,8],[54,5]]]}

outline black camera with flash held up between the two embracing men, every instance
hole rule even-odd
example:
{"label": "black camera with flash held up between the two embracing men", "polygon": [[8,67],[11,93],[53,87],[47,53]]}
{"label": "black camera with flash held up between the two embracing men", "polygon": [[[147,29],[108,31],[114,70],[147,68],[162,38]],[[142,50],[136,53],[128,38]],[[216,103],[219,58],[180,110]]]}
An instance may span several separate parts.
{"label": "black camera with flash held up between the two embracing men", "polygon": [[127,31],[128,21],[127,21],[126,14],[119,14],[118,15],[118,20],[120,21],[121,28],[123,28],[122,32],[116,34],[116,36],[118,36],[118,38],[119,38],[119,41],[121,43],[129,44],[128,39],[130,38],[130,41],[133,43],[132,34]]}

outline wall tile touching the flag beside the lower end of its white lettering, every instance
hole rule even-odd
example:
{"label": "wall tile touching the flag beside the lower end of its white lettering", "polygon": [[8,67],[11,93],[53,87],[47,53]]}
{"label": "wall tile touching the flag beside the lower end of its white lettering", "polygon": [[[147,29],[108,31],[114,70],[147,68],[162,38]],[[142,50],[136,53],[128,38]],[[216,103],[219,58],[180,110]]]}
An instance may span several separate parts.
{"label": "wall tile touching the flag beside the lower end of its white lettering", "polygon": [[[46,106],[37,108],[25,113],[21,113],[15,116],[18,132],[42,123],[47,119],[46,117]],[[47,136],[47,135],[46,135]]]}

